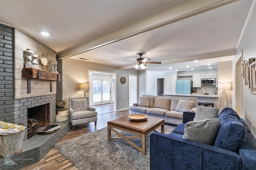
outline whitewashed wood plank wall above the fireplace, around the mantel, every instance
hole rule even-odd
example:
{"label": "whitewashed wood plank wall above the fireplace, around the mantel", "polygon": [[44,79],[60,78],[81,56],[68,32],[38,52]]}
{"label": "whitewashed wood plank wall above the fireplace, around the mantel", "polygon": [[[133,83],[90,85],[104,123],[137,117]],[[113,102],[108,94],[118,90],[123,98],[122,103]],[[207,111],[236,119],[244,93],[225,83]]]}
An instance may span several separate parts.
{"label": "whitewashed wood plank wall above the fireplace, around the mantel", "polygon": [[[39,33],[38,33],[39,34]],[[43,81],[38,79],[31,79],[31,93],[28,94],[28,81],[22,77],[22,69],[26,64],[26,49],[32,49],[33,53],[39,46],[48,51],[50,61],[56,61],[56,51],[50,49],[46,45],[38,42],[36,39],[28,36],[18,28],[15,28],[15,99],[25,97],[36,97],[43,95],[56,94],[56,81],[52,82],[52,92],[50,92],[50,81]]]}

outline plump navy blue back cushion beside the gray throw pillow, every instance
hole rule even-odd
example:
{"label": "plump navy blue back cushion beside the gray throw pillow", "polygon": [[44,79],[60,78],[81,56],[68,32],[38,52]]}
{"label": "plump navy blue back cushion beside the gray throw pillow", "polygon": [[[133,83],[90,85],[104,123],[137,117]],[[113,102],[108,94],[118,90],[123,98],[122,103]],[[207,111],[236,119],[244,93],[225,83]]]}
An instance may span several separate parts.
{"label": "plump navy blue back cushion beside the gray throw pillow", "polygon": [[226,115],[221,119],[221,125],[214,146],[236,151],[246,139],[247,131],[240,120],[234,115]]}

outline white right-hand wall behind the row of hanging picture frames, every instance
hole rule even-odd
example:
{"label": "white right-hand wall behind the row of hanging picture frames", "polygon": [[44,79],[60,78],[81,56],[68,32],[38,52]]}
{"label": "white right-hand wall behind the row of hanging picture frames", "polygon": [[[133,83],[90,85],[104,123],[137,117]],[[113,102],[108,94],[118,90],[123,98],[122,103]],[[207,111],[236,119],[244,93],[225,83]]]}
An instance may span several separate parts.
{"label": "white right-hand wall behind the row of hanging picture frames", "polygon": [[[236,70],[235,65],[243,50],[242,60],[256,57],[256,4],[253,2],[250,17],[246,23],[242,37],[238,43],[237,55],[233,60],[233,71]],[[236,75],[233,75],[235,79]],[[234,96],[235,98],[236,96]],[[246,121],[253,136],[256,138],[256,95],[250,93],[250,89],[244,86],[242,79],[242,118]]]}

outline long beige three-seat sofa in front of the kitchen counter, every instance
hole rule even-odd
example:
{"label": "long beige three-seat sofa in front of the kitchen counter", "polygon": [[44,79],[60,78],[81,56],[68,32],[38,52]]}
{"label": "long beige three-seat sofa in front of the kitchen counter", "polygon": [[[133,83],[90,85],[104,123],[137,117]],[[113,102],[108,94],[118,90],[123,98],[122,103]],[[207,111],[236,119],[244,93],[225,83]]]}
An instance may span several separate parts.
{"label": "long beige three-seat sofa in front of the kitchen counter", "polygon": [[183,112],[196,112],[196,107],[196,97],[143,95],[139,97],[139,103],[133,103],[130,107],[130,113],[160,117],[167,124],[179,125],[182,123]]}

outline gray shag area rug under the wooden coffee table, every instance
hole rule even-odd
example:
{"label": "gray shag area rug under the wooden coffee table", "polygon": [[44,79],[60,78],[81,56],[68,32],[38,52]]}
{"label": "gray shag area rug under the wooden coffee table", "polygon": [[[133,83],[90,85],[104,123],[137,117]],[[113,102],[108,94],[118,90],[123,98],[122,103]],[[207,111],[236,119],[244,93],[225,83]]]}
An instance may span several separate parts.
{"label": "gray shag area rug under the wooden coffee table", "polygon": [[[165,125],[169,134],[175,126]],[[161,128],[156,129],[161,132]],[[133,136],[118,130],[125,136]],[[117,136],[111,132],[112,136]],[[133,139],[141,147],[139,139]],[[96,130],[82,136],[58,143],[55,148],[79,170],[149,170],[150,134],[147,136],[147,154],[143,155],[125,140],[108,140],[107,128]]]}

